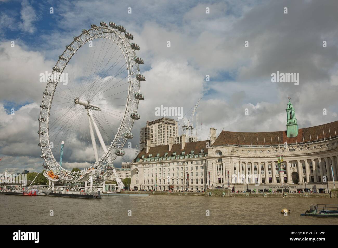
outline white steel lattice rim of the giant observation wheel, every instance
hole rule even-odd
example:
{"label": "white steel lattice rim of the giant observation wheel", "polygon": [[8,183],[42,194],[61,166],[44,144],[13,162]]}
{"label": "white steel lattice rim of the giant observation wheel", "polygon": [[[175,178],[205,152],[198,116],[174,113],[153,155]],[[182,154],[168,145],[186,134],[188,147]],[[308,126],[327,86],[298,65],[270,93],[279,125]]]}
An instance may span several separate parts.
{"label": "white steel lattice rim of the giant observation wheel", "polygon": [[[97,33],[93,32],[93,31],[97,31]],[[99,32],[99,31],[101,31],[101,32]],[[123,55],[125,56],[126,66],[127,66],[127,70],[128,70],[128,93],[127,93],[127,100],[126,100],[126,104],[125,104],[125,110],[124,110],[123,118],[120,122],[120,126],[117,130],[117,133],[114,137],[114,140],[110,144],[109,148],[107,148],[107,151],[100,157],[99,161],[95,162],[94,165],[92,165],[93,168],[98,168],[100,165],[102,165],[103,162],[106,161],[107,158],[111,156],[114,148],[115,149],[117,149],[117,148],[122,149],[123,148],[123,146],[126,142],[126,138],[121,137],[121,132],[122,132],[123,127],[127,126],[126,120],[128,120],[129,125],[128,125],[128,128],[125,128],[125,129],[131,130],[132,126],[134,125],[135,119],[128,118],[127,113],[129,113],[129,110],[133,111],[134,113],[137,113],[139,100],[135,99],[134,101],[131,101],[130,94],[133,93],[133,92],[140,93],[140,81],[137,82],[137,78],[135,76],[136,75],[135,72],[137,74],[140,74],[140,70],[139,70],[138,64],[132,63],[131,56],[136,57],[136,53],[135,53],[135,50],[133,50],[130,46],[130,40],[128,38],[124,37],[123,35],[121,35],[121,33],[122,32],[119,33],[118,31],[114,30],[113,28],[102,26],[102,27],[94,27],[94,28],[91,28],[89,30],[86,30],[85,32],[82,32],[82,34],[77,36],[76,39],[74,37],[74,40],[70,43],[70,45],[66,46],[67,47],[66,50],[61,55],[61,57],[64,57],[64,55],[65,55],[65,57],[67,58],[66,62],[62,63],[63,60],[61,58],[59,58],[58,61],[55,64],[55,66],[53,67],[53,71],[52,71],[50,78],[47,81],[45,92],[49,89],[49,86],[50,86],[50,83],[51,83],[50,80],[52,79],[52,75],[55,72],[57,72],[56,74],[58,74],[58,77],[57,77],[57,80],[54,81],[54,83],[53,83],[54,86],[52,88],[51,97],[47,100],[48,101],[48,111],[47,112],[43,111],[44,106],[45,106],[44,103],[46,102],[45,99],[47,99],[47,97],[48,97],[48,96],[46,96],[45,92],[44,92],[44,96],[43,96],[43,99],[42,99],[42,105],[41,105],[41,110],[40,110],[40,118],[39,118],[39,138],[40,138],[39,145],[41,146],[42,157],[45,160],[48,168],[50,168],[50,169],[53,168],[53,169],[58,170],[57,172],[63,172],[64,173],[62,175],[62,178],[60,178],[62,181],[76,182],[81,177],[81,174],[83,175],[83,173],[87,172],[88,169],[85,168],[85,169],[78,171],[78,172],[72,172],[72,171],[65,169],[64,167],[60,166],[57,163],[56,159],[54,158],[53,152],[51,151],[51,148],[49,146],[50,139],[49,139],[49,132],[48,131],[49,131],[50,109],[51,109],[51,106],[52,106],[52,101],[53,101],[55,90],[57,88],[57,84],[59,83],[60,76],[62,75],[63,71],[65,70],[68,62],[71,60],[73,55],[80,49],[80,47],[82,47],[84,44],[88,43],[90,40],[102,37],[102,38],[110,39],[111,42],[116,43],[116,45],[119,47],[119,50],[121,50]],[[89,34],[89,36],[88,36],[88,34]],[[120,42],[120,44],[116,40],[113,40],[111,37],[104,37],[103,36],[104,34],[114,35],[115,38],[118,38],[118,41]],[[82,37],[85,37],[85,38],[81,39]],[[78,46],[74,46],[74,44],[76,44],[77,42],[79,42],[79,44],[77,44]],[[123,46],[123,47],[121,47],[121,46]],[[74,47],[75,47],[75,49],[74,49]],[[60,65],[62,65],[61,69],[59,68]],[[134,70],[133,72],[132,72],[132,68]],[[135,71],[135,69],[136,69],[136,71]],[[133,76],[134,76],[134,78],[133,78]],[[132,88],[132,85],[136,85],[136,87]],[[134,108],[130,108],[130,106],[134,106]],[[47,116],[46,116],[46,113],[47,113]],[[46,118],[47,118],[47,121],[46,121]],[[42,119],[44,119],[45,121],[42,121]],[[47,130],[47,132],[43,133],[42,130],[44,130],[44,129]],[[48,146],[46,146],[46,141],[48,141]],[[118,142],[119,142],[119,145],[117,145]],[[117,155],[114,156],[113,161],[116,159],[116,157],[117,157]],[[110,159],[111,159],[111,157],[110,157]],[[67,174],[67,176],[65,176],[65,173]]]}

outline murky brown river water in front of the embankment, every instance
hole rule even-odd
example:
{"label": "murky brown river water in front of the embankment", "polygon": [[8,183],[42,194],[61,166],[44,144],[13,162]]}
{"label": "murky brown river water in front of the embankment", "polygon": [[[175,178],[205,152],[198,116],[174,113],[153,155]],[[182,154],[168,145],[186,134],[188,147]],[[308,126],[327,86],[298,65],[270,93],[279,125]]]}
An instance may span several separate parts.
{"label": "murky brown river water in front of the embankment", "polygon": [[[0,219],[1,224],[338,224],[335,218],[300,217],[311,204],[338,204],[338,199],[0,195]],[[283,208],[291,211],[288,216],[281,214]]]}

